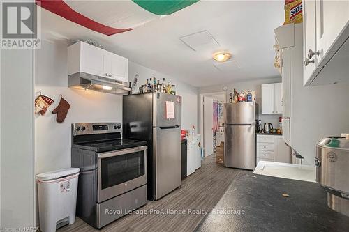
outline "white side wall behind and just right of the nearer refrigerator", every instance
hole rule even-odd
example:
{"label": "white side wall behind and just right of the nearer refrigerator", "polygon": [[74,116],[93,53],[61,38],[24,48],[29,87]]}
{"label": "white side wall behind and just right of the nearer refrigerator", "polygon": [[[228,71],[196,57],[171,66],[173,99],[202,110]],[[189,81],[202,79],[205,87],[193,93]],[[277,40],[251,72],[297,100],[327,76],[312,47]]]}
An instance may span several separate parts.
{"label": "white side wall behind and just right of the nearer refrigerator", "polygon": [[176,94],[182,97],[181,108],[181,127],[184,130],[191,130],[191,126],[195,126],[198,131],[198,88],[189,84],[179,82],[175,77],[169,77],[161,72],[146,68],[137,63],[128,62],[128,80],[133,82],[135,75],[138,74],[139,86],[145,83],[146,79],[156,77],[156,79],[166,82],[171,82],[176,85]]}

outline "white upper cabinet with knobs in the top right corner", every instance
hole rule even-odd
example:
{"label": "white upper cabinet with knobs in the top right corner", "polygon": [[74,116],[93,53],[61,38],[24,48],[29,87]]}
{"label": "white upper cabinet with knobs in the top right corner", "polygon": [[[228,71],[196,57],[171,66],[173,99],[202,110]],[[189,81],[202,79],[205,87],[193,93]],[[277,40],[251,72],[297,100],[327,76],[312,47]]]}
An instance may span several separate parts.
{"label": "white upper cabinet with knobs in the top right corner", "polygon": [[349,83],[349,1],[305,0],[304,86]]}

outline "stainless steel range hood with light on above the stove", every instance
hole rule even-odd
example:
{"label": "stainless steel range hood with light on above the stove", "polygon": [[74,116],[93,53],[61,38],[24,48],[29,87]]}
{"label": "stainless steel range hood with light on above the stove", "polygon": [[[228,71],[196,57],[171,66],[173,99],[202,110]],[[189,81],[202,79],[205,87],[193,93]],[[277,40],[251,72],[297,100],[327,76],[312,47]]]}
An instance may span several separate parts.
{"label": "stainless steel range hood with light on above the stove", "polygon": [[120,82],[107,77],[98,77],[86,72],[77,72],[72,75],[68,75],[68,87],[78,89],[90,89],[103,93],[112,93],[126,95],[128,91],[127,82]]}

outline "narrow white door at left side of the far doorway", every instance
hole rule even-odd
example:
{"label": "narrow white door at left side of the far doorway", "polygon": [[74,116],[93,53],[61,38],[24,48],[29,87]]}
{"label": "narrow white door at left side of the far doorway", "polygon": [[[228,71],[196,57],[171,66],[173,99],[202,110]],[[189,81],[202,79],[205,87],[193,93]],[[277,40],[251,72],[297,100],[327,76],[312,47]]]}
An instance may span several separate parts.
{"label": "narrow white door at left side of the far doorway", "polygon": [[204,155],[214,153],[214,100],[204,96]]}

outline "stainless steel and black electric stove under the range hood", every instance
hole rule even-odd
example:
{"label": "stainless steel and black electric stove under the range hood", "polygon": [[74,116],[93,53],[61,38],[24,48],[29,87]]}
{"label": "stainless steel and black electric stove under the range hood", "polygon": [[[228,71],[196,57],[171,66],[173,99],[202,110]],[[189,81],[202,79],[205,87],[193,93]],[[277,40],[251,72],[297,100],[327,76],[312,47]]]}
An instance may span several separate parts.
{"label": "stainless steel and black electric stove under the range hood", "polygon": [[121,123],[72,124],[71,166],[80,168],[78,217],[100,229],[147,203],[146,144],[121,139]]}

